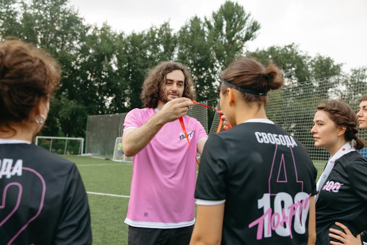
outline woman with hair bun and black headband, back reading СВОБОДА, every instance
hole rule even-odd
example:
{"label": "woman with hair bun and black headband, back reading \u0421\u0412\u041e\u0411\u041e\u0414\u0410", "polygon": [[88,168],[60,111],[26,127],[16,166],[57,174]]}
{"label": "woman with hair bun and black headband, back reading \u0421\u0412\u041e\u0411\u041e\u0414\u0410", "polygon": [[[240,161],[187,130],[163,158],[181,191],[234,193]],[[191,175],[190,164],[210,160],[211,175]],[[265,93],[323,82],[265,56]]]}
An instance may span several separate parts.
{"label": "woman with hair bun and black headband, back reading \u0421\u0412\u041e\u0411\u041e\u0414\u0410", "polygon": [[317,170],[305,147],[265,112],[281,71],[239,57],[221,74],[229,130],[211,134],[196,184],[191,244],[314,244]]}

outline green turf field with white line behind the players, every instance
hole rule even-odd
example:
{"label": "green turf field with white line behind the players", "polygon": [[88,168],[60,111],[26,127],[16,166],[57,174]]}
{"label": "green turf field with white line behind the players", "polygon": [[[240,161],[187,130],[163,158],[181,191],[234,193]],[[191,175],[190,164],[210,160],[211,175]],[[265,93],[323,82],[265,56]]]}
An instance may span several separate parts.
{"label": "green turf field with white line behind the players", "polygon": [[[128,226],[124,220],[129,202],[127,196],[130,195],[132,164],[91,157],[63,157],[76,163],[82,175],[91,209],[93,244],[127,244]],[[325,163],[315,161],[314,164],[319,176]]]}

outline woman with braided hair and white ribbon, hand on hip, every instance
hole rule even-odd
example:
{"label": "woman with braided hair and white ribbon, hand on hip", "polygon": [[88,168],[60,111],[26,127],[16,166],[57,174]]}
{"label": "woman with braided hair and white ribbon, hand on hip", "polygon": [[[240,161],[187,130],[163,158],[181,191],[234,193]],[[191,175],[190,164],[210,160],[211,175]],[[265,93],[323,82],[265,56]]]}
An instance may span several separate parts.
{"label": "woman with braided hair and white ribbon, hand on hip", "polygon": [[[351,244],[339,231],[346,226],[360,239],[360,233],[367,229],[367,162],[355,150],[366,143],[357,137],[356,114],[343,101],[331,99],[321,103],[313,124],[315,147],[330,153],[317,182],[316,244]],[[352,140],[354,148],[349,145]],[[333,233],[329,234],[330,231]]]}

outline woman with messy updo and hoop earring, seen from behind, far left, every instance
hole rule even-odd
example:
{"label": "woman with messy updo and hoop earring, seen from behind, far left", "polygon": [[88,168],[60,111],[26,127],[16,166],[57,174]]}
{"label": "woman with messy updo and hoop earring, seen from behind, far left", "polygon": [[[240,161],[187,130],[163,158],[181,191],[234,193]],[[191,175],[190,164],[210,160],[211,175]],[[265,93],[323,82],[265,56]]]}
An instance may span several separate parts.
{"label": "woman with messy updo and hoop earring, seen from behind, far left", "polygon": [[92,243],[75,164],[31,144],[60,73],[43,50],[18,40],[0,43],[0,244]]}

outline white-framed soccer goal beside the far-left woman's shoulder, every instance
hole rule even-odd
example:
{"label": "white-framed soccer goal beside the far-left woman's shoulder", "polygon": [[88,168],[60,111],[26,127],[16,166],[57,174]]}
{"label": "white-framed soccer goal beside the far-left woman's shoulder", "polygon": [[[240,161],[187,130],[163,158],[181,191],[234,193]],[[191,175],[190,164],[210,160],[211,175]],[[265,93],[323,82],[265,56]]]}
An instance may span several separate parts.
{"label": "white-framed soccer goal beside the far-left woman's shoulder", "polygon": [[84,138],[36,136],[35,145],[44,147],[56,154],[82,155]]}

